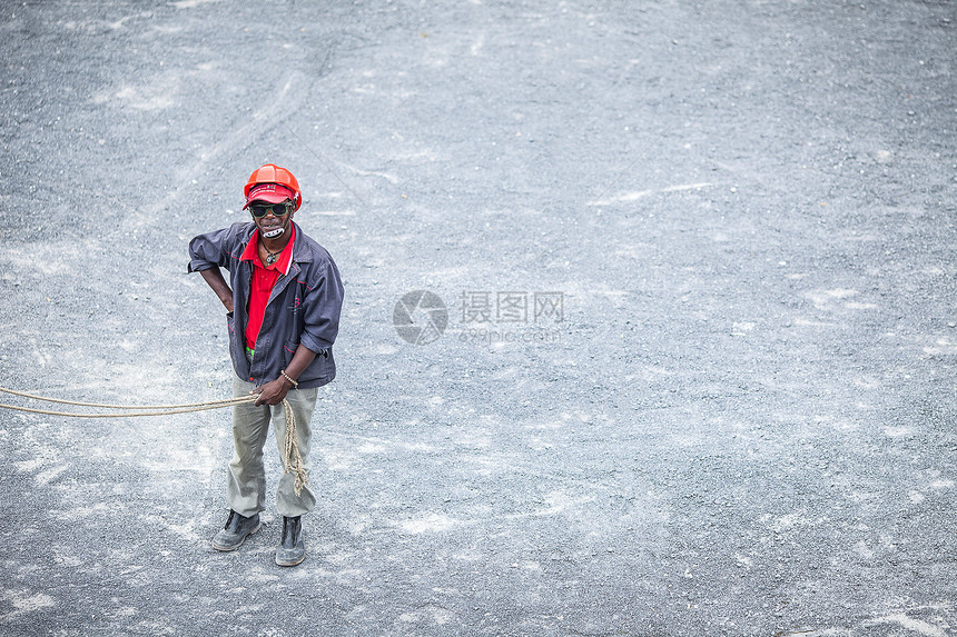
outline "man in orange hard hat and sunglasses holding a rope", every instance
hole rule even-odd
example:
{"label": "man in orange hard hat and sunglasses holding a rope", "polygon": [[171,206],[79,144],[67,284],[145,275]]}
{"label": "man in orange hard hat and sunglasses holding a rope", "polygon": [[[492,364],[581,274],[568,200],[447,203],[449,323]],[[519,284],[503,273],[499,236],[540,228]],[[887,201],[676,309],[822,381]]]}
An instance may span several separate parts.
{"label": "man in orange hard hat and sunglasses holding a rope", "polygon": [[[259,530],[266,508],[263,448],[269,422],[286,462],[288,401],[295,417],[302,468],[309,469],[309,420],[318,387],[335,378],[333,342],[339,327],[343,285],[329,253],[293,223],[302,205],[299,183],[285,168],[267,163],[244,191],[251,222],[199,235],[189,242],[189,271],[199,272],[227,311],[234,396],[257,394],[233,411],[235,455],[229,462],[229,517],[213,538],[217,550],[235,550]],[[220,268],[229,271],[229,283]],[[276,492],[283,534],[276,564],[306,557],[302,516],[316,505],[308,486],[284,472]]]}

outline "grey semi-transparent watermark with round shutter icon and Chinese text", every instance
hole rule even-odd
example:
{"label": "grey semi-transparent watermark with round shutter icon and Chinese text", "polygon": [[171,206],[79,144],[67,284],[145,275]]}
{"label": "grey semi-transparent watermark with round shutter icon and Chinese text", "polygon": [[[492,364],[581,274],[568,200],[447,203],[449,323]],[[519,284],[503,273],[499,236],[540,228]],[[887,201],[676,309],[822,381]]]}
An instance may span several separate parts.
{"label": "grey semi-transparent watermark with round shutter icon and Chinese text", "polygon": [[[561,342],[565,296],[558,291],[465,290],[460,296],[457,338],[462,342]],[[393,324],[413,345],[438,340],[448,326],[448,311],[438,296],[416,290],[395,305]]]}

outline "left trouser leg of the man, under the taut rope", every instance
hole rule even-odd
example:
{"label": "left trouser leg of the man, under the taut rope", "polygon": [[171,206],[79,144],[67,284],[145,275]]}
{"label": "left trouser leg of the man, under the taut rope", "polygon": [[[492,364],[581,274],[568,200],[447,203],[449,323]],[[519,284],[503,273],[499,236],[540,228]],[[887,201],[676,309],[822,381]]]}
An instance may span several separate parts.
{"label": "left trouser leg of the man, under the taut rope", "polygon": [[[248,396],[256,386],[233,376],[233,396]],[[280,406],[282,408],[282,406]],[[266,468],[263,447],[269,432],[269,406],[233,408],[234,456],[229,462],[226,497],[229,508],[249,517],[266,509]]]}

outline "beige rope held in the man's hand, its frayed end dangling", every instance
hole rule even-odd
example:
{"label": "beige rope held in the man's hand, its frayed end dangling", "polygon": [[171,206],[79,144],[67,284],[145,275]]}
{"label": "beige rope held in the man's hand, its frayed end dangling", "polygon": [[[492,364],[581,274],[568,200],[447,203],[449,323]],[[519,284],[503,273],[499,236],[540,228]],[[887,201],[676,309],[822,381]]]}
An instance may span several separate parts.
{"label": "beige rope held in the man's hand, its frayed end dangling", "polygon": [[[80,402],[77,400],[61,400],[59,398],[47,398],[16,391],[0,387],[0,391],[30,398],[32,400],[41,400],[43,402],[59,402],[61,405],[72,405],[77,407],[95,407],[97,409],[122,409],[127,411],[146,410],[136,414],[80,414],[78,411],[50,411],[48,409],[32,409],[30,407],[19,407],[16,405],[6,405],[0,402],[0,408],[12,409],[14,411],[26,411],[28,414],[43,414],[47,416],[66,416],[68,418],[136,418],[139,416],[170,416],[174,414],[190,414],[194,411],[205,411],[207,409],[220,409],[223,407],[238,407],[239,405],[248,405],[255,402],[256,396],[240,396],[238,398],[227,398],[225,400],[210,400],[208,402],[186,402],[180,405],[106,405],[102,402]],[[283,472],[293,474],[295,482],[293,488],[298,496],[303,491],[303,487],[309,485],[309,477],[306,474],[306,468],[303,466],[303,456],[299,454],[299,437],[296,435],[296,415],[293,412],[293,406],[285,398],[283,399],[283,409],[286,416],[286,434],[283,440]]]}

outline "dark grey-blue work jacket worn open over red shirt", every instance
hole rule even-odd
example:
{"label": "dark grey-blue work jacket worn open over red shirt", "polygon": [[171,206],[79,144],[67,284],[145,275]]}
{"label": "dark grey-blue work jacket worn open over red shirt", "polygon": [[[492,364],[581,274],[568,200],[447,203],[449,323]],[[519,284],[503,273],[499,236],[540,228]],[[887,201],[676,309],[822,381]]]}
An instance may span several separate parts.
{"label": "dark grey-blue work jacket worn open over red shirt", "polygon": [[339,330],[343,283],[329,253],[308,238],[296,225],[289,273],[279,277],[256,338],[256,355],[246,357],[245,334],[249,310],[253,263],[240,261],[255,223],[239,222],[229,228],[199,235],[189,242],[190,272],[220,267],[229,270],[234,311],[227,313],[229,355],[239,378],[264,385],[279,377],[299,344],[318,354],[299,375],[302,388],[319,387],[336,377],[333,342]]}

